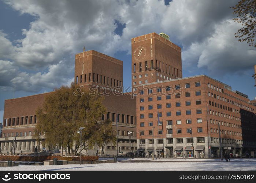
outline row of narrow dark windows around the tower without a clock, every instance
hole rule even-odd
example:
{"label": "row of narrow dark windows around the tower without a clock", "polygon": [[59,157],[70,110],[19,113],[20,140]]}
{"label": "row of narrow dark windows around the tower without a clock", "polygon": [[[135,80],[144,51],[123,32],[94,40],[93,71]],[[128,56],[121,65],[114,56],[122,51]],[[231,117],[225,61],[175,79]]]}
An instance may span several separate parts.
{"label": "row of narrow dark windows around the tower without a clock", "polygon": [[83,82],[97,82],[97,83],[101,83],[104,85],[108,85],[108,86],[122,86],[122,81],[118,81],[116,79],[112,79],[106,76],[102,76],[99,74],[95,75],[95,73],[89,73],[89,74],[84,74],[84,75],[80,75],[79,76],[79,81],[78,81],[78,76],[76,76],[76,84],[78,83],[83,83]]}

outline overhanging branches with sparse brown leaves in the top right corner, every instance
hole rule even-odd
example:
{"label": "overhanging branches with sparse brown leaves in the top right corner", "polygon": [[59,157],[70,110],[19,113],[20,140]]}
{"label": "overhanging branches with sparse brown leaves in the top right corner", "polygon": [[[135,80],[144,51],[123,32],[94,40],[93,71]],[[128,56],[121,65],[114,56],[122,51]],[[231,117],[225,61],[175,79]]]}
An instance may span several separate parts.
{"label": "overhanging branches with sparse brown leaves in the top right corner", "polygon": [[238,29],[235,37],[239,38],[240,42],[247,41],[249,46],[256,47],[256,0],[240,0],[231,8],[234,10],[233,13],[237,14],[237,18],[233,20],[242,23],[242,28]]}

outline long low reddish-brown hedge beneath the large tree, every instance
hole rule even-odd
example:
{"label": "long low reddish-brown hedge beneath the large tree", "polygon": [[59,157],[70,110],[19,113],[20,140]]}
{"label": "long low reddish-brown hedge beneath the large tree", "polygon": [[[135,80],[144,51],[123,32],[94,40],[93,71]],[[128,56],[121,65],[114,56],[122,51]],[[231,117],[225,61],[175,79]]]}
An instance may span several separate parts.
{"label": "long low reddish-brown hedge beneath the large tree", "polygon": [[[58,160],[67,161],[80,161],[80,156],[0,156],[0,161],[36,161],[43,162],[45,160]],[[99,160],[99,156],[81,156],[82,161],[96,161]]]}

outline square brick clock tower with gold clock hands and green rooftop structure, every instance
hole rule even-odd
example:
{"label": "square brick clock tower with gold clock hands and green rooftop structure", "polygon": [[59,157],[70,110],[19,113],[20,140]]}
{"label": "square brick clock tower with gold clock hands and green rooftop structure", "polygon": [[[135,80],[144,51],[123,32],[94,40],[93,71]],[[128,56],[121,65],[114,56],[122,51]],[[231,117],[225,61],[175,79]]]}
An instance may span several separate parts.
{"label": "square brick clock tower with gold clock hands and green rooftop structure", "polygon": [[182,78],[181,48],[164,33],[132,38],[131,56],[134,94],[136,86]]}

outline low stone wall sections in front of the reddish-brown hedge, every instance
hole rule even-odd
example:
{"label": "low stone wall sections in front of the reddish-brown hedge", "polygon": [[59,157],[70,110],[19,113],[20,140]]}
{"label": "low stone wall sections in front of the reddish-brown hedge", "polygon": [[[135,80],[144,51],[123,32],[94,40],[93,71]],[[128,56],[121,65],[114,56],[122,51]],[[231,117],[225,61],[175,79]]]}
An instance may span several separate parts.
{"label": "low stone wall sections in front of the reddish-brown hedge", "polygon": [[[81,164],[115,163],[114,160],[81,161]],[[80,161],[58,160],[58,165],[80,164]],[[53,165],[53,160],[44,161],[44,165]]]}

